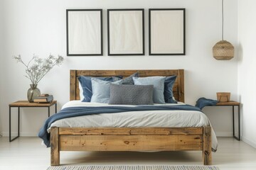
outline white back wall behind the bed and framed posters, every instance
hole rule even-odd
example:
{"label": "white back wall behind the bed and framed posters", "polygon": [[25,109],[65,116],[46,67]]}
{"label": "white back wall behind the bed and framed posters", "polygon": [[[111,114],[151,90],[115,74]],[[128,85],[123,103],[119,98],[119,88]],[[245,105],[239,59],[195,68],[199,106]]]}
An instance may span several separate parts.
{"label": "white back wall behind the bed and framed posters", "polygon": [[[225,38],[237,46],[237,0],[225,1]],[[218,61],[212,57],[212,47],[221,39],[221,2],[215,0],[4,0],[6,51],[4,65],[4,101],[1,102],[1,125],[8,134],[8,104],[26,99],[30,82],[21,64],[11,58],[21,54],[28,61],[33,53],[40,57],[63,55],[65,63],[55,67],[38,84],[43,93],[53,94],[58,109],[69,100],[70,69],[185,69],[185,100],[194,105],[201,97],[215,98],[217,91],[230,91],[238,99],[237,57]],[[66,57],[65,9],[103,8],[104,56]],[[107,56],[107,8],[145,8],[145,56]],[[148,8],[186,8],[186,56],[148,55]],[[231,132],[229,109],[206,108],[217,134]],[[14,111],[15,112],[15,111]],[[36,135],[46,120],[46,111],[23,108],[21,135]],[[216,113],[218,112],[218,114]],[[216,114],[215,114],[216,113]],[[220,122],[219,120],[223,120]],[[223,125],[223,123],[226,125]],[[14,122],[15,124],[15,122]],[[33,128],[29,128],[32,126]],[[14,128],[16,128],[14,126]]]}

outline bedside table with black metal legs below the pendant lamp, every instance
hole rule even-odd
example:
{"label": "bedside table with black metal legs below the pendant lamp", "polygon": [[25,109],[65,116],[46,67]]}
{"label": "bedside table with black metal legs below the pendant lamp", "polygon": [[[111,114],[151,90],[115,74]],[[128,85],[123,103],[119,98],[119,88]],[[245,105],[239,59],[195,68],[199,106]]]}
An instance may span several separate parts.
{"label": "bedside table with black metal legs below the pendant lamp", "polygon": [[[240,103],[237,101],[229,101],[229,102],[220,102],[215,106],[231,106],[233,113],[233,137],[236,140],[240,140]],[[238,137],[235,136],[235,106],[238,107]]]}

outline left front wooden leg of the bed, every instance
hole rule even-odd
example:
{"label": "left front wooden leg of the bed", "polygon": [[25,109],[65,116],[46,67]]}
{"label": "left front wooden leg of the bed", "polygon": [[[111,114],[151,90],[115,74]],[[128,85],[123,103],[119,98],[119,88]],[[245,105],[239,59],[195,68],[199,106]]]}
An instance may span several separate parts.
{"label": "left front wooden leg of the bed", "polygon": [[50,166],[60,165],[58,128],[50,128]]}

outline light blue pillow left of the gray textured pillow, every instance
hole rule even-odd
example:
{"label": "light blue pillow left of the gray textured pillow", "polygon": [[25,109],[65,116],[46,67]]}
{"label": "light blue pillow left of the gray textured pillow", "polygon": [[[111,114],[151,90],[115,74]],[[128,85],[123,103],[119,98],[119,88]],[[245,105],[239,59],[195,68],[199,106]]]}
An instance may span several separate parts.
{"label": "light blue pillow left of the gray textured pillow", "polygon": [[92,98],[91,102],[109,103],[110,101],[110,84],[122,84],[122,79],[119,81],[104,81],[101,79],[92,78]]}

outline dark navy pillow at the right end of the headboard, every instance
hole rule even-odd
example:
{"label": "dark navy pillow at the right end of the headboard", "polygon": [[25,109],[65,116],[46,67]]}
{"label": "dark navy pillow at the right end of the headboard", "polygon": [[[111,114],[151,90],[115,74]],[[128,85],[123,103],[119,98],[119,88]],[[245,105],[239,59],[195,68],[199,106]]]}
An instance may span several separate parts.
{"label": "dark navy pillow at the right end of the headboard", "polygon": [[177,103],[174,99],[173,87],[176,80],[176,76],[166,77],[164,81],[164,101],[166,103]]}

